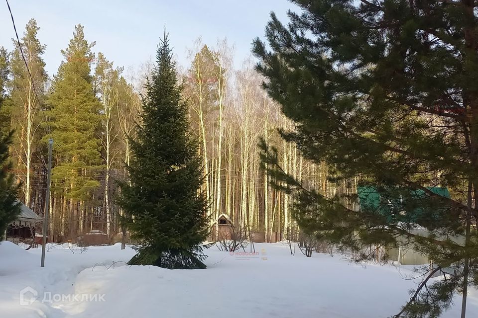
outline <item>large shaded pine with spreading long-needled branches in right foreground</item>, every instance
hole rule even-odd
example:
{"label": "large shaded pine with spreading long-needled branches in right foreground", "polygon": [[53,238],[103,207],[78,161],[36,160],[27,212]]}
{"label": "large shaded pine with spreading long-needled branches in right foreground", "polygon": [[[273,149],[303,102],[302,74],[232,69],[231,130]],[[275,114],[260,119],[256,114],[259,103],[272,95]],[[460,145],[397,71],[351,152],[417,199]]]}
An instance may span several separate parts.
{"label": "large shaded pine with spreading long-needled branches in right foreground", "polygon": [[[478,18],[470,0],[295,0],[254,54],[268,94],[295,122],[281,131],[334,182],[381,198],[353,208],[287,175],[261,143],[274,185],[305,231],[357,252],[404,242],[434,266],[395,317],[438,317],[478,286]],[[448,195],[447,190],[451,195]],[[363,197],[362,197],[363,203]],[[420,229],[425,234],[419,235]],[[447,279],[434,274],[455,269]],[[453,272],[453,271],[451,271]]]}

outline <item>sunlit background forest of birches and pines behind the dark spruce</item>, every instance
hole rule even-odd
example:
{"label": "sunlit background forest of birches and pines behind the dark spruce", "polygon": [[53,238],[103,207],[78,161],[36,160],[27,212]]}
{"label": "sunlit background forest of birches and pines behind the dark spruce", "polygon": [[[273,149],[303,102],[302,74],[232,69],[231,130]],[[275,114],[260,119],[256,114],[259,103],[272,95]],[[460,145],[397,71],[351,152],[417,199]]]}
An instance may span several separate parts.
{"label": "sunlit background forest of birches and pines behind the dark spruce", "polygon": [[[54,139],[49,233],[53,241],[74,239],[91,230],[119,234],[118,180],[127,180],[125,163],[141,113],[150,63],[133,69],[114,65],[77,25],[61,51],[54,75],[47,74],[40,26],[31,19],[14,49],[0,48],[4,91],[1,133],[14,129],[10,155],[21,181],[20,200],[39,215],[45,211],[49,138]],[[284,169],[321,193],[349,191],[354,183],[330,184],[325,165],[299,156],[277,129],[292,128],[280,106],[261,89],[251,58],[239,70],[226,40],[188,50],[190,65],[179,69],[192,129],[200,141],[208,216],[221,214],[252,232],[277,238],[297,233],[289,197],[272,188],[260,167],[258,142],[277,147]],[[31,80],[33,79],[33,80]],[[36,93],[35,93],[36,92]]]}

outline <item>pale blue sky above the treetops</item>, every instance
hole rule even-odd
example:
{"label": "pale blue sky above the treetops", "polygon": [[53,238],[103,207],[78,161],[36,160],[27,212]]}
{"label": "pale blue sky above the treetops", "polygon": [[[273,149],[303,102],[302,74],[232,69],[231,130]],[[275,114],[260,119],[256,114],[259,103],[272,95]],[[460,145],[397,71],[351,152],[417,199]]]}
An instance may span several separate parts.
{"label": "pale blue sky above the treetops", "polygon": [[[56,73],[74,26],[85,26],[94,52],[103,52],[116,66],[138,65],[154,56],[163,25],[181,66],[188,67],[186,47],[199,36],[208,45],[227,38],[236,48],[235,64],[250,54],[251,41],[263,37],[270,11],[286,22],[295,6],[287,0],[9,0],[18,35],[31,17],[46,44],[44,60],[50,76]],[[12,48],[13,27],[6,3],[0,2],[0,46]]]}

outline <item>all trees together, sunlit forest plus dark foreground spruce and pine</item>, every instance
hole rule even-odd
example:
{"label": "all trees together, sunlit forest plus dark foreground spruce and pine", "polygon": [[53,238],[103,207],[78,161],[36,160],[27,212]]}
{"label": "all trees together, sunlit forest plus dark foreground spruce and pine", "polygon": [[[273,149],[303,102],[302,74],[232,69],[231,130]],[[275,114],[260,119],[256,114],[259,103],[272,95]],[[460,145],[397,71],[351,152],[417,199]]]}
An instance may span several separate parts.
{"label": "all trees together, sunlit forest plus dark foreground spruce and pine", "polygon": [[287,24],[272,12],[259,62],[239,68],[227,40],[199,38],[176,69],[165,32],[154,67],[125,69],[77,25],[47,74],[31,19],[0,47],[0,172],[51,211],[50,241],[115,241],[128,225],[130,264],[204,268],[200,244],[224,214],[291,254],[294,241],[309,257],[324,245],[381,262],[398,248],[400,263],[413,248],[429,264],[394,317],[439,317],[457,293],[465,317],[478,286],[476,1],[291,1],[302,12]]}

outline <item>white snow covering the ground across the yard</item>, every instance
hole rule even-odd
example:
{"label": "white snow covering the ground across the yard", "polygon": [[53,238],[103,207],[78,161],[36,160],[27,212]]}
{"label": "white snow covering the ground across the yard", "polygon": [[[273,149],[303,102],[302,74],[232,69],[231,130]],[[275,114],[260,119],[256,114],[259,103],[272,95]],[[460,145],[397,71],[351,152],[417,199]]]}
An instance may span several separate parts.
{"label": "white snow covering the ground across the yard", "polygon": [[[134,251],[119,244],[83,252],[51,245],[41,268],[41,249],[2,242],[0,317],[383,318],[396,314],[419,282],[407,279],[413,272],[405,268],[360,266],[341,255],[306,258],[297,248],[292,256],[281,243],[255,250],[212,247],[207,269],[167,270],[125,265]],[[475,290],[468,308],[468,317],[478,317]],[[443,317],[459,316],[455,306]]]}

